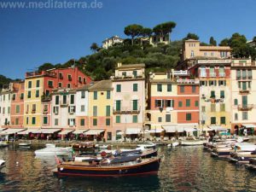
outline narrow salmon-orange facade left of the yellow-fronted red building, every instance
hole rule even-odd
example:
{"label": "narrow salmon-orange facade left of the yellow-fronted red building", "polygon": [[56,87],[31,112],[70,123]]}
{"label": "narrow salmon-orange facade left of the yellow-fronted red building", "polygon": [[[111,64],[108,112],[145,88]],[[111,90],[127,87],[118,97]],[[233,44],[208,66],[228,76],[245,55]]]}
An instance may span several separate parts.
{"label": "narrow salmon-orange facade left of the yellow-fronted red building", "polygon": [[11,93],[10,127],[22,128],[24,116],[24,81],[14,82]]}

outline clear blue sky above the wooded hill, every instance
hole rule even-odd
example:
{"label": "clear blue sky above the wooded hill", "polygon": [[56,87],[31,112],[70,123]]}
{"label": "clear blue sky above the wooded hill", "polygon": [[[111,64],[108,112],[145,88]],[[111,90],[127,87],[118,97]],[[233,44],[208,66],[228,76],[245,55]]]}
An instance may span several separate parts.
{"label": "clear blue sky above the wooded hill", "polygon": [[[23,0],[25,3],[36,0]],[[172,40],[196,33],[208,43],[214,37],[219,43],[234,32],[248,40],[256,36],[256,1],[254,0],[41,0],[58,1],[58,7],[46,4],[40,9],[0,8],[0,74],[24,79],[27,71],[45,62],[63,63],[90,55],[90,44],[102,45],[113,35],[127,38],[124,27],[140,24],[154,27],[166,21],[177,26]],[[75,8],[61,9],[64,1]],[[0,0],[22,2],[21,0]],[[97,8],[80,8],[85,2]],[[91,4],[93,2],[93,4]],[[60,3],[62,3],[60,5]],[[50,4],[52,5],[52,4]],[[39,6],[39,5],[38,5]],[[48,5],[49,6],[49,5]],[[71,6],[71,5],[70,5]]]}

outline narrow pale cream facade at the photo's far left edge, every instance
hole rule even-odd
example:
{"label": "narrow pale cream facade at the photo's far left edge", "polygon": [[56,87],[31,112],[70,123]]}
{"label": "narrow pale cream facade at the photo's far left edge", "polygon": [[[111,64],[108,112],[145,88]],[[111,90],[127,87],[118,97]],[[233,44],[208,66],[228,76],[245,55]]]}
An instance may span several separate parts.
{"label": "narrow pale cream facade at the photo's far left edge", "polygon": [[7,128],[10,122],[12,84],[7,85],[0,93],[0,125]]}

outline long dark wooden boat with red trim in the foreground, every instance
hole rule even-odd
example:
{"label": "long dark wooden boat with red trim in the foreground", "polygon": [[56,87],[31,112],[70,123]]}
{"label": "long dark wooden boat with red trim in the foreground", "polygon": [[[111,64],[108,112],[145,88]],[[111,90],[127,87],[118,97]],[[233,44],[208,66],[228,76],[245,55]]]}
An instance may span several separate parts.
{"label": "long dark wooden boat with red trim in the foreground", "polygon": [[[126,158],[126,157],[125,157]],[[122,177],[144,174],[156,174],[160,167],[160,158],[132,159],[126,161],[124,157],[103,159],[100,162],[62,162],[57,166],[58,176],[72,177]]]}

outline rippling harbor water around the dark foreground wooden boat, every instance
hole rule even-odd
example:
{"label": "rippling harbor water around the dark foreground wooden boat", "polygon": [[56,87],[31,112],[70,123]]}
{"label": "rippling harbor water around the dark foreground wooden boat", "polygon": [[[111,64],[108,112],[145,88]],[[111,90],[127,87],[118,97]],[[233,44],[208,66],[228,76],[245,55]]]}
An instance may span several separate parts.
{"label": "rippling harbor water around the dark foreground wooden boat", "polygon": [[159,148],[158,175],[143,177],[55,177],[55,159],[35,158],[37,148],[0,148],[7,166],[0,191],[256,191],[256,174],[210,156],[203,147]]}

